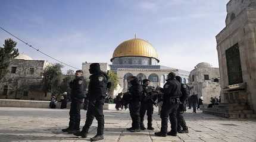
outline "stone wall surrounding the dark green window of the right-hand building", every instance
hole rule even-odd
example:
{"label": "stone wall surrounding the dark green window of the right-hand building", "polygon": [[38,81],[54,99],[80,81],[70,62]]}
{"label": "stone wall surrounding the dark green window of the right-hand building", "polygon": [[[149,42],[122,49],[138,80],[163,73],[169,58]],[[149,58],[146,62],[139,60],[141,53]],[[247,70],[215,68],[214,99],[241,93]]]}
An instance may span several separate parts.
{"label": "stone wall surrounding the dark green window of the right-hand building", "polygon": [[[236,1],[233,1],[236,2]],[[249,1],[255,2],[255,1]],[[251,4],[250,4],[251,5]],[[238,44],[243,82],[247,83],[249,105],[256,110],[256,5],[243,9],[216,36],[221,89],[229,85],[226,50]],[[221,92],[224,102],[224,94]]]}

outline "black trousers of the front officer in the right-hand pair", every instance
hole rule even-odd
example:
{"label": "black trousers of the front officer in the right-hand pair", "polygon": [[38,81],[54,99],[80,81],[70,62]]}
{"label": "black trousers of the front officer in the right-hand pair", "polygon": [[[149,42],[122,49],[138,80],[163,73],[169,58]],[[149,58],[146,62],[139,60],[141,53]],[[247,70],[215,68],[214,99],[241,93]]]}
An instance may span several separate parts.
{"label": "black trousers of the front officer in the right-hand pair", "polygon": [[170,117],[171,132],[177,133],[177,108],[178,104],[163,103],[161,109],[161,133],[167,134],[168,117]]}

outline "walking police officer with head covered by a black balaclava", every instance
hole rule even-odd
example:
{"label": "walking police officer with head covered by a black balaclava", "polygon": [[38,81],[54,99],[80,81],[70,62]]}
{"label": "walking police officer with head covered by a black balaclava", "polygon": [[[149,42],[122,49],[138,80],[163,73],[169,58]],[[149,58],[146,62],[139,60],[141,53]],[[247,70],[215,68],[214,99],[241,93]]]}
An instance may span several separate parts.
{"label": "walking police officer with head covered by a black balaclava", "polygon": [[105,72],[100,69],[99,63],[90,64],[89,69],[90,82],[88,86],[88,111],[86,113],[86,121],[82,131],[75,133],[74,135],[87,137],[90,125],[92,125],[93,118],[96,117],[98,121],[97,134],[90,138],[90,141],[98,141],[104,139],[104,114],[103,105],[107,93],[108,77]]}

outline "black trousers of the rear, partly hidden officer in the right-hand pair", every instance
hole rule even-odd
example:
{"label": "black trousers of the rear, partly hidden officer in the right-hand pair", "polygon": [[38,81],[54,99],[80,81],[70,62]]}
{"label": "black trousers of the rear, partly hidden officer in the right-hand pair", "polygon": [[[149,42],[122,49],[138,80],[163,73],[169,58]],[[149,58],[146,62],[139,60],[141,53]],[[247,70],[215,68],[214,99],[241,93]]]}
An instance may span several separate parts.
{"label": "black trousers of the rear, partly hidden officer in the right-hand pair", "polygon": [[177,109],[177,131],[188,130],[186,121],[183,117],[183,112],[185,110],[183,107],[186,107],[186,105],[180,104],[179,108]]}

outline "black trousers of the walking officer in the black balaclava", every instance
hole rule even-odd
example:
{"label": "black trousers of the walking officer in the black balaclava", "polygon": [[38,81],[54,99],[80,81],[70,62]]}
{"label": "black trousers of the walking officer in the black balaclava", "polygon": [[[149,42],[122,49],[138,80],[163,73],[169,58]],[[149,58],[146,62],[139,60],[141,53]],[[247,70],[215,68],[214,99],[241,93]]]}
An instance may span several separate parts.
{"label": "black trousers of the walking officer in the black balaclava", "polygon": [[100,101],[89,101],[88,111],[86,113],[86,121],[83,126],[83,130],[85,133],[88,133],[90,125],[92,125],[92,121],[94,117],[98,121],[97,135],[104,134],[104,114],[103,114],[103,105],[105,99]]}

